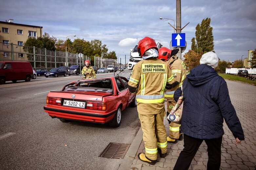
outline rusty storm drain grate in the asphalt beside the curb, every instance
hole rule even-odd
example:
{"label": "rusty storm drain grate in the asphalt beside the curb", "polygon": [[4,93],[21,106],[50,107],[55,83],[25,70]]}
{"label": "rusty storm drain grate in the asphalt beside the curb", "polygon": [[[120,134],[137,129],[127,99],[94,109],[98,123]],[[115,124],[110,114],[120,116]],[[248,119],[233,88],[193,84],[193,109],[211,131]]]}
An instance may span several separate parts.
{"label": "rusty storm drain grate in the asphalt beside the curb", "polygon": [[123,159],[129,147],[130,144],[109,143],[106,149],[100,155],[100,157]]}

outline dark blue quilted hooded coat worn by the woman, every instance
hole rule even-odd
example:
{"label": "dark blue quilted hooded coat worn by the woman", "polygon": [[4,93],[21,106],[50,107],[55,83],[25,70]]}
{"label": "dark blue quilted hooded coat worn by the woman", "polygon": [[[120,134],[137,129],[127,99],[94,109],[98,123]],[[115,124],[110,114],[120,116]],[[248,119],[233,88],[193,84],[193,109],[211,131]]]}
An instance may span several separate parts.
{"label": "dark blue quilted hooded coat worn by the woman", "polygon": [[[174,93],[177,101],[181,88]],[[226,81],[206,64],[190,70],[183,83],[183,115],[181,130],[198,139],[223,136],[223,118],[234,137],[244,140],[244,131],[232,105]]]}

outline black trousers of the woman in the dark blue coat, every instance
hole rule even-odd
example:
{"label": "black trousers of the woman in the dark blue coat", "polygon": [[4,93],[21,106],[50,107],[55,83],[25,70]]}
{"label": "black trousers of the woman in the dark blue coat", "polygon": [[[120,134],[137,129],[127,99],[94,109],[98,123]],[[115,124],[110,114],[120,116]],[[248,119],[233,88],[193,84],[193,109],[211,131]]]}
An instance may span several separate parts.
{"label": "black trousers of the woman in the dark blue coat", "polygon": [[208,152],[207,170],[220,169],[222,137],[197,139],[184,134],[184,149],[181,151],[173,170],[187,170],[203,140],[205,140]]}

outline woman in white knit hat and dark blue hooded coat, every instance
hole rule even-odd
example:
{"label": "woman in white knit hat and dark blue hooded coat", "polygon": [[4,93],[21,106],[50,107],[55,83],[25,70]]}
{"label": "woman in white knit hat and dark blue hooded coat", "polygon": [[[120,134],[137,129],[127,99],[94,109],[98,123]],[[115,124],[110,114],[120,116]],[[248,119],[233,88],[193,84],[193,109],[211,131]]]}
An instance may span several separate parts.
{"label": "woman in white knit hat and dark blue hooded coat", "polygon": [[[220,169],[223,118],[237,144],[244,140],[241,123],[232,105],[226,81],[213,69],[218,65],[213,52],[202,55],[200,65],[191,69],[183,83],[183,115],[181,130],[184,132],[184,149],[174,170],[187,170],[203,140],[207,144],[207,170]],[[181,88],[174,93],[177,101]]]}

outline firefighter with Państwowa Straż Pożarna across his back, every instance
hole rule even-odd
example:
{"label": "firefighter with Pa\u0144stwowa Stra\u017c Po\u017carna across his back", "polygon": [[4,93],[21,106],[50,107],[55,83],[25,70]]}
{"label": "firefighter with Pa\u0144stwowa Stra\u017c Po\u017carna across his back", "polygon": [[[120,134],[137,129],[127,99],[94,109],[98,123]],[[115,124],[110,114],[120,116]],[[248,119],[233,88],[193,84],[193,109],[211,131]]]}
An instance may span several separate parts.
{"label": "firefighter with Pa\u0144stwowa Stra\u017c Po\u017carna across his back", "polygon": [[136,94],[137,110],[143,131],[146,153],[138,158],[153,165],[157,153],[167,155],[166,129],[164,125],[164,90],[170,89],[173,76],[167,63],[157,59],[158,49],[154,39],[145,37],[138,43],[139,56],[143,58],[133,67],[128,89]]}

